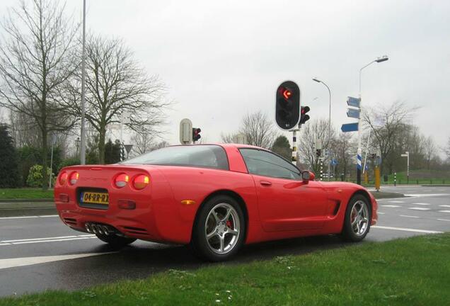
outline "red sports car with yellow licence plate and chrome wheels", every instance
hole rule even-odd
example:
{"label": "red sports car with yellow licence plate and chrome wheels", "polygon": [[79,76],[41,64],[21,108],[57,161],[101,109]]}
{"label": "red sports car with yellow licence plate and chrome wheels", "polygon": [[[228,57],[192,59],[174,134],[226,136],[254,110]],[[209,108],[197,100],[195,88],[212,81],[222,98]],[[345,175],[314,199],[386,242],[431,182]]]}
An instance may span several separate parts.
{"label": "red sports car with yellow licence plate and chrome wheels", "polygon": [[66,225],[113,246],[190,244],[210,261],[273,239],[342,234],[357,242],[377,220],[362,186],[314,181],[248,145],[180,145],[120,164],[69,166],[54,200]]}

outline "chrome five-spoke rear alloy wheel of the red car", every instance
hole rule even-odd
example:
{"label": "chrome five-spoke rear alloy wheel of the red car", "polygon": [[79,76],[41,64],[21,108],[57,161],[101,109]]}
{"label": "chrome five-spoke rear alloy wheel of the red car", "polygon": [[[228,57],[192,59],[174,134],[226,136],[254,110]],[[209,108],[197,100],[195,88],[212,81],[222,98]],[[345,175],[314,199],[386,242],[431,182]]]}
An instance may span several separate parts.
{"label": "chrome five-spoke rear alloy wheel of the red car", "polygon": [[209,211],[204,234],[209,249],[226,254],[236,246],[241,233],[238,212],[228,203],[219,203]]}

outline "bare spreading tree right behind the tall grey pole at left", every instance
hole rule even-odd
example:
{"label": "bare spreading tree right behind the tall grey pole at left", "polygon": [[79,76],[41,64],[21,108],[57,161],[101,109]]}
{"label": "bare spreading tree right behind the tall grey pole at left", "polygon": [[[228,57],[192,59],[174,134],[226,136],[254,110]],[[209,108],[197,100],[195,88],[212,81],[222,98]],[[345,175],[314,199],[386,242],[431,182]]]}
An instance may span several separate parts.
{"label": "bare spreading tree right behind the tall grey pole at left", "polygon": [[[71,81],[64,105],[81,116],[81,74]],[[165,86],[157,76],[148,77],[134,60],[131,50],[119,39],[89,36],[86,42],[86,120],[98,131],[100,164],[105,158],[107,125],[120,123],[129,113],[127,127],[155,135],[163,123]]]}

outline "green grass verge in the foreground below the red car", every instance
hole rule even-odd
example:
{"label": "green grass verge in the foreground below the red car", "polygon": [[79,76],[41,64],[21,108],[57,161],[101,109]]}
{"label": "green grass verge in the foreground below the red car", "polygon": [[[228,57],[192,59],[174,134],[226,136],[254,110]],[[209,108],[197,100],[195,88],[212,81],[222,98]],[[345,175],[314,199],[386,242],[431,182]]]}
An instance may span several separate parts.
{"label": "green grass verge in the foreground below the red car", "polygon": [[427,235],[169,270],[71,293],[4,298],[0,305],[449,305],[449,254],[450,233]]}

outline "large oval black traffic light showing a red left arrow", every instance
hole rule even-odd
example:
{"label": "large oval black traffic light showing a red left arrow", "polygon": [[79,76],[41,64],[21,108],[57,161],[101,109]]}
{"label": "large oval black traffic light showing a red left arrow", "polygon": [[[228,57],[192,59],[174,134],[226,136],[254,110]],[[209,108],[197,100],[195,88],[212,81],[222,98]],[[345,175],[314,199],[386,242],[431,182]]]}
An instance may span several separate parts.
{"label": "large oval black traffic light showing a red left arrow", "polygon": [[275,121],[282,130],[296,128],[300,120],[300,89],[293,81],[278,86],[275,101]]}

